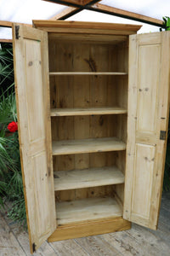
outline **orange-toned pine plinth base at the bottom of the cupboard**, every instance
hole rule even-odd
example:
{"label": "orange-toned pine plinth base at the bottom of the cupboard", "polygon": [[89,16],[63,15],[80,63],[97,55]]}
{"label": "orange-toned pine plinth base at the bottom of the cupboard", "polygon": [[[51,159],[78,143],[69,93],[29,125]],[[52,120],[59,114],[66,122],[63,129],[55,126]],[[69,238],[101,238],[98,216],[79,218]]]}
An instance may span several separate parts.
{"label": "orange-toned pine plinth base at the bottom of the cupboard", "polygon": [[95,236],[116,231],[129,230],[131,222],[118,218],[105,218],[99,221],[65,224],[58,226],[54,233],[48,237],[48,241],[61,241],[83,236]]}

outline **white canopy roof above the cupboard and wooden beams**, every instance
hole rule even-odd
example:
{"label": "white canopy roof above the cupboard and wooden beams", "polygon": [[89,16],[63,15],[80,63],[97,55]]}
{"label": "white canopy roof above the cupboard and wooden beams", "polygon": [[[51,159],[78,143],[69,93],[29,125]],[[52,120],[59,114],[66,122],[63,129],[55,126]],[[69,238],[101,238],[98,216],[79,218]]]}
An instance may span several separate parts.
{"label": "white canopy roof above the cupboard and wooden beams", "polygon": [[[162,16],[170,16],[169,0],[102,0],[99,3],[118,9],[132,11],[140,15],[147,15],[160,20],[162,20]],[[64,5],[49,3],[42,0],[1,0],[0,20],[31,24],[31,20],[48,20],[66,8],[67,7]],[[88,10],[83,10],[67,20],[139,24],[143,25],[139,30],[139,33],[159,31],[158,26],[151,26],[139,21],[127,20],[113,15],[105,15]],[[0,38],[12,38],[11,29],[1,27]]]}

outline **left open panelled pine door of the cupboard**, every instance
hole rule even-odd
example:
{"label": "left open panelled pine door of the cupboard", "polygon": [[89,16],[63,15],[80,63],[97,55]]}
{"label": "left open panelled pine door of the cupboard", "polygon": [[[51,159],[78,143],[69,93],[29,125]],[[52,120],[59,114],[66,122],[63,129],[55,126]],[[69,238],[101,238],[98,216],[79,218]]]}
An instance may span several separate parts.
{"label": "left open panelled pine door of the cupboard", "polygon": [[20,160],[33,253],[56,229],[48,33],[14,24],[13,38]]}

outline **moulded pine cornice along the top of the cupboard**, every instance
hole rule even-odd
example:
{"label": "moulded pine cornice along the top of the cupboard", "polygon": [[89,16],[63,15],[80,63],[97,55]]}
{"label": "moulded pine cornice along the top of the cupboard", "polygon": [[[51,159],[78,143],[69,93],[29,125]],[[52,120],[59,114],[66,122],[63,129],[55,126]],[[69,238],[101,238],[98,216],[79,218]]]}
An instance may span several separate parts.
{"label": "moulded pine cornice along the top of the cupboard", "polygon": [[[114,34],[114,32],[133,32],[136,33],[141,26],[139,25],[130,25],[130,24],[117,24],[117,23],[102,23],[102,22],[87,22],[87,21],[66,21],[66,20],[32,20],[33,26],[37,28],[45,28],[48,31],[48,28],[61,28],[62,32],[66,32],[66,28],[71,31],[74,29],[76,32],[90,32],[91,33],[108,33]],[[77,29],[77,30],[76,30]],[[78,30],[80,29],[80,30]],[[87,30],[87,31],[86,31]]]}

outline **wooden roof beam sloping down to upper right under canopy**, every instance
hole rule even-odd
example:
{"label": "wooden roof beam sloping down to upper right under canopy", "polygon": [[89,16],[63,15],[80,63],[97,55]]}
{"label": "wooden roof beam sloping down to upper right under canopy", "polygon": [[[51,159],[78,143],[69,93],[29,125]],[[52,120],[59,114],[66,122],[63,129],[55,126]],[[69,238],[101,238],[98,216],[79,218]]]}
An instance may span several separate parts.
{"label": "wooden roof beam sloping down to upper right under canopy", "polygon": [[98,11],[100,13],[105,13],[107,15],[115,15],[118,17],[130,19],[130,20],[141,21],[154,26],[163,26],[163,20],[158,20],[145,15],[139,15],[123,9],[117,9],[115,7],[108,6],[101,3],[95,3],[94,5],[89,6],[88,9]]}

